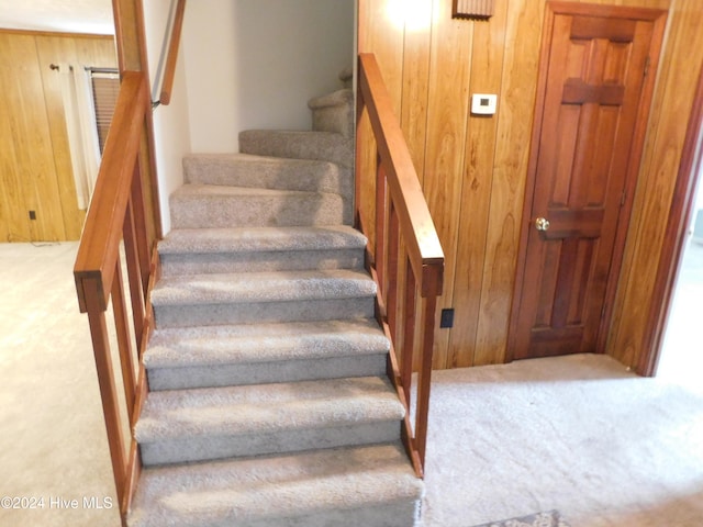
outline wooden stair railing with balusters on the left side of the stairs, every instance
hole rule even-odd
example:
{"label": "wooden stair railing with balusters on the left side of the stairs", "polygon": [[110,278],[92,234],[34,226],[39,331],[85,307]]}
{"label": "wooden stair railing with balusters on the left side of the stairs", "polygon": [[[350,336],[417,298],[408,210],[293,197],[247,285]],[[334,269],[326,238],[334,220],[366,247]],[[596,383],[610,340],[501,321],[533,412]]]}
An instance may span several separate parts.
{"label": "wooden stair railing with balusters on the left side of the stairs", "polygon": [[[145,214],[141,173],[145,161],[140,146],[147,111],[150,98],[146,75],[125,71],[74,266],[78,304],[80,312],[88,314],[90,325],[123,524],[142,464],[131,430],[124,434],[122,411],[126,410],[132,426],[147,390],[141,358],[153,329],[148,299],[157,270],[155,244],[147,239],[147,223],[153,220]],[[122,253],[129,278],[129,306]],[[105,318],[110,304],[116,357]],[[120,365],[123,396],[116,388],[115,362]]]}

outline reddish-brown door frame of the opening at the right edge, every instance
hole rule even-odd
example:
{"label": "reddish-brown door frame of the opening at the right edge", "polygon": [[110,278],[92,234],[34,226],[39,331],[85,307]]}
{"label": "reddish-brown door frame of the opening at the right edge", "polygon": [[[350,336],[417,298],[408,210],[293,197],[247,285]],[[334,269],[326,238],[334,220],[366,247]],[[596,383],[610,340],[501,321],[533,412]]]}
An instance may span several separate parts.
{"label": "reddish-brown door frame of the opening at the right edge", "polygon": [[654,377],[659,365],[667,323],[671,314],[673,291],[683,258],[687,228],[693,213],[695,188],[696,183],[701,184],[698,181],[701,170],[703,170],[703,66],[699,74],[693,106],[687,125],[667,229],[659,254],[651,307],[647,317],[647,333],[643,339],[643,354],[636,366],[636,372],[640,375]]}

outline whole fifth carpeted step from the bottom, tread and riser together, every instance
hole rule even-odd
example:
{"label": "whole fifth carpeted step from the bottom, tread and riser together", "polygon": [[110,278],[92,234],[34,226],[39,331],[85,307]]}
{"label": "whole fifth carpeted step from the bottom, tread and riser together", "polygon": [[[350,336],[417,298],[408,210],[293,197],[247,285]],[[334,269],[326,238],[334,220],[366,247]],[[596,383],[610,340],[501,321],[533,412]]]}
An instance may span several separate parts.
{"label": "whole fifth carpeted step from the bottom, tread and riser together", "polygon": [[344,226],[180,228],[159,242],[164,277],[360,269],[366,237]]}

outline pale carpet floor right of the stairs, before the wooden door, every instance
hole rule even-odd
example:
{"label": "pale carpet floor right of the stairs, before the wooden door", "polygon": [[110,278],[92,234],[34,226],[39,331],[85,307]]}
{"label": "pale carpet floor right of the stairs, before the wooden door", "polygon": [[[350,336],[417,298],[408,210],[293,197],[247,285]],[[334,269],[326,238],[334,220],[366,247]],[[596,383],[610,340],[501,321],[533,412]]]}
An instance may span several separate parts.
{"label": "pale carpet floor right of the stairs, before the wooden door", "polygon": [[576,355],[434,373],[425,527],[703,526],[703,392]]}

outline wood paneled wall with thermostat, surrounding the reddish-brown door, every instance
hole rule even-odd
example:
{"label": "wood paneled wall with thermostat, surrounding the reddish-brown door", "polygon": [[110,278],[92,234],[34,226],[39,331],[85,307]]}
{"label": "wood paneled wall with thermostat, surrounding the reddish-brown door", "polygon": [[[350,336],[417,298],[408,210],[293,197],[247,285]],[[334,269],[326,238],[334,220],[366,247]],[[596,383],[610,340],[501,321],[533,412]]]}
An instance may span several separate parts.
{"label": "wood paneled wall with thermostat, surrounding the reddish-brown door", "polygon": [[[633,365],[703,59],[703,3],[591,3],[669,10],[607,347]],[[451,0],[359,0],[359,51],[377,55],[447,258],[439,309],[454,307],[455,323],[437,329],[435,368],[505,358],[545,5],[496,0],[489,21],[466,21],[451,19]],[[471,93],[496,93],[496,114],[471,115]],[[362,192],[367,225],[372,192]]]}

